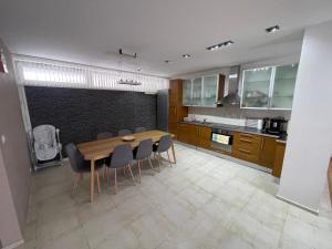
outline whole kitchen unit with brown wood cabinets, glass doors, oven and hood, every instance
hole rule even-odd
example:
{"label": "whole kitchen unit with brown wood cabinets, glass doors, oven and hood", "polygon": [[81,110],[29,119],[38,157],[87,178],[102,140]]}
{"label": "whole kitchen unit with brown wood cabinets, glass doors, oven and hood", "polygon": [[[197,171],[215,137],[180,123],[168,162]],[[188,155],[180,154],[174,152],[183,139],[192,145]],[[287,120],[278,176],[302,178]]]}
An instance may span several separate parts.
{"label": "whole kitchen unit with brown wood cabinets, glass doors, oven and hood", "polygon": [[170,81],[169,131],[197,149],[280,177],[298,64]]}

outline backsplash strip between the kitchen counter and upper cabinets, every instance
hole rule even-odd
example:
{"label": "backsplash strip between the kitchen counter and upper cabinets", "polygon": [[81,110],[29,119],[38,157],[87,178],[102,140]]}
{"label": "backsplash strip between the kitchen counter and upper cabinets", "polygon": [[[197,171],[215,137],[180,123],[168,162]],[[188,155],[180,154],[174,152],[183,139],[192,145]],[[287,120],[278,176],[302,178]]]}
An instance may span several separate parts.
{"label": "backsplash strip between the kitchen counter and upper cabinets", "polygon": [[[246,110],[240,107],[189,107],[189,114],[196,117],[205,116],[208,121],[227,118],[227,120],[247,120],[282,116],[290,120],[291,111],[279,110]],[[199,120],[199,118],[198,118]],[[239,121],[240,122],[240,121]]]}

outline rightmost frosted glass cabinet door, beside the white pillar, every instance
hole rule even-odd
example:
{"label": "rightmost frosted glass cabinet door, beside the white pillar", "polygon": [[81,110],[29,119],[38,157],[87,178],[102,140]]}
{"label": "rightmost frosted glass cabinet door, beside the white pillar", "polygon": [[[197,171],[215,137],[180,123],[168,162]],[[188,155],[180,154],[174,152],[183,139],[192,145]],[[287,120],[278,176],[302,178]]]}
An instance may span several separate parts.
{"label": "rightmost frosted glass cabinet door, beside the white pillar", "polygon": [[276,68],[272,108],[291,108],[297,81],[298,64]]}

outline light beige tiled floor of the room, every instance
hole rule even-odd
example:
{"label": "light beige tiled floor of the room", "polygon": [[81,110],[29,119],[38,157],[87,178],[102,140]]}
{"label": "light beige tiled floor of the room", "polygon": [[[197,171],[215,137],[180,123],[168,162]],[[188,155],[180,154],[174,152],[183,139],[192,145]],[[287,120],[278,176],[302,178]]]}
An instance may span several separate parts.
{"label": "light beige tiled floor of the room", "polygon": [[272,176],[176,145],[177,165],[146,165],[142,184],[123,178],[89,203],[89,177],[70,197],[64,167],[39,172],[21,248],[331,249],[332,215],[276,199]]}

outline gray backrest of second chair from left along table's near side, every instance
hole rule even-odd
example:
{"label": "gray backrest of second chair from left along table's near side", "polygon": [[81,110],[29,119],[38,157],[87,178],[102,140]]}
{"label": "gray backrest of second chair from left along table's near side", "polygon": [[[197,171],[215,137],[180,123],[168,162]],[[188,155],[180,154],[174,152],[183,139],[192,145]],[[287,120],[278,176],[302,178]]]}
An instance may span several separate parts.
{"label": "gray backrest of second chair from left along table's near side", "polygon": [[133,160],[133,148],[131,144],[121,144],[113,149],[111,168],[122,168]]}

